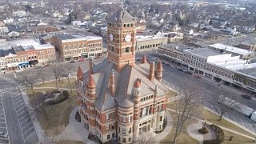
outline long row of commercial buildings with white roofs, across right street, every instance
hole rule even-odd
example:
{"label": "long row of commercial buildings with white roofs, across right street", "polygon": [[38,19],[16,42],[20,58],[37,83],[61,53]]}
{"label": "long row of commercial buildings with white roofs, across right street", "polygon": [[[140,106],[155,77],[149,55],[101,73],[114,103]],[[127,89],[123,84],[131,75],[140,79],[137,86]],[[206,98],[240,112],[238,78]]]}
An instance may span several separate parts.
{"label": "long row of commercial buildings with white roofs, across right street", "polygon": [[186,45],[162,45],[158,54],[184,70],[256,93],[256,63],[241,59],[241,55]]}

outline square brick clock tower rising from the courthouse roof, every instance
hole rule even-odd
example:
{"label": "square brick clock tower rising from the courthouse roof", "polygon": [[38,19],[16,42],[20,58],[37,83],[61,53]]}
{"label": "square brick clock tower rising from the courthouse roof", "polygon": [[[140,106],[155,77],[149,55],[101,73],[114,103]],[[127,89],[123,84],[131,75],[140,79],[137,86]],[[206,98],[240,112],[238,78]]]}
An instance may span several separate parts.
{"label": "square brick clock tower rising from the courthouse roof", "polygon": [[136,20],[124,8],[110,17],[107,25],[107,44],[110,62],[119,72],[123,66],[135,65]]}

